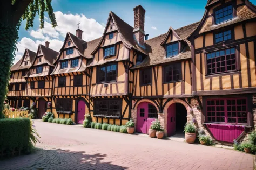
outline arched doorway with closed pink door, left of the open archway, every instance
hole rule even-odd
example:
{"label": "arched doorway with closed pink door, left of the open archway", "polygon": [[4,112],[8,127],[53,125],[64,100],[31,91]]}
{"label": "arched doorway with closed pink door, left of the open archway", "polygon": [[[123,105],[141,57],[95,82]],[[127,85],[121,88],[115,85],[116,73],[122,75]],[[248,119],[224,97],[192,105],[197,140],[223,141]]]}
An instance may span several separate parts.
{"label": "arched doorway with closed pink door, left of the open archway", "polygon": [[136,132],[148,134],[151,122],[158,118],[157,108],[149,102],[139,103],[137,107]]}

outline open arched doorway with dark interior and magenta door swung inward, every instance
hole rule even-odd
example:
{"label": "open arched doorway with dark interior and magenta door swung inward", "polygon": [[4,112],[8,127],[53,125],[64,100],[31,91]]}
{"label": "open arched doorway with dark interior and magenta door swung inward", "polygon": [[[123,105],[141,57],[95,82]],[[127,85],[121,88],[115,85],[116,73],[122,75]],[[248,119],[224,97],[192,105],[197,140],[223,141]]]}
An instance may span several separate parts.
{"label": "open arched doorway with dark interior and magenta door swung inward", "polygon": [[187,122],[187,109],[181,103],[173,103],[167,109],[167,136],[183,133]]}

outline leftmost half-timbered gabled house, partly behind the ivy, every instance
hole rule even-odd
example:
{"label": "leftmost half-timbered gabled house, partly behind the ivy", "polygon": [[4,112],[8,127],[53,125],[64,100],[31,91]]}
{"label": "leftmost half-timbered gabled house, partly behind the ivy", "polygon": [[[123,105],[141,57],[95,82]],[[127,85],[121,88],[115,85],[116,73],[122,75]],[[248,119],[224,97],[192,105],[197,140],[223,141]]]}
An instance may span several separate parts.
{"label": "leftmost half-timbered gabled house, partly behind the ivy", "polygon": [[35,60],[36,53],[25,49],[22,58],[11,67],[11,75],[8,86],[8,100],[11,107],[30,107],[30,98],[27,94],[27,83],[25,76],[28,68]]}

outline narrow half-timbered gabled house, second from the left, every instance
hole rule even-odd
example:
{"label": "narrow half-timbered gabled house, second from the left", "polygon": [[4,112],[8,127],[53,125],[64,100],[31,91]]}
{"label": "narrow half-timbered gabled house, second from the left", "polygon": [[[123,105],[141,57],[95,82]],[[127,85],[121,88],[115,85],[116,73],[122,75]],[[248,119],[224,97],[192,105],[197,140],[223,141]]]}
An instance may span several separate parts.
{"label": "narrow half-timbered gabled house, second from the left", "polygon": [[48,105],[48,102],[52,103],[53,79],[50,74],[58,54],[57,51],[49,48],[48,41],[45,42],[45,46],[39,44],[35,60],[25,76],[28,84],[26,94],[31,99],[31,102],[36,103],[38,118],[42,118],[45,112],[52,111],[51,105]]}

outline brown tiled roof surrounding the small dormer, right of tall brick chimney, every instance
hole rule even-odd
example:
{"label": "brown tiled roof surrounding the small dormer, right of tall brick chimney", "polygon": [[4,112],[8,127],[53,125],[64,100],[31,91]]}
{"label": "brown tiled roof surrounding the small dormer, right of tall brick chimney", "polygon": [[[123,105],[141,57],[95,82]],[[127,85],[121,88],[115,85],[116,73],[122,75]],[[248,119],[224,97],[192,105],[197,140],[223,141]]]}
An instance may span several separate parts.
{"label": "brown tiled roof surrounding the small dormer, right of tall brick chimney", "polygon": [[163,42],[163,40],[165,39],[167,33],[151,38],[149,40],[146,40],[145,44],[146,44],[148,56],[142,63],[140,63],[139,65],[133,66],[132,69],[191,58],[190,42],[187,41],[186,38],[190,35],[190,33],[194,29],[196,29],[198,24],[199,22],[196,22],[196,23],[174,30],[178,34],[178,36],[185,41],[187,45],[183,48],[183,50],[179,55],[171,58],[165,57],[165,49],[163,46],[160,45],[161,42]]}

